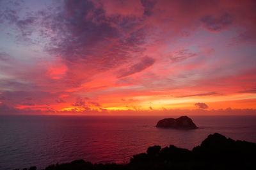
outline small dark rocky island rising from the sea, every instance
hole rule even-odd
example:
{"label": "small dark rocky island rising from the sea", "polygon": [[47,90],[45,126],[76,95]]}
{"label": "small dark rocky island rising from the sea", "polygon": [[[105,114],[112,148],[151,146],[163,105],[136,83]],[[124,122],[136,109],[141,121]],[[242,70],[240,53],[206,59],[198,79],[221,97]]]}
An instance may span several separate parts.
{"label": "small dark rocky island rising from the sea", "polygon": [[180,118],[167,118],[159,120],[156,127],[160,128],[180,128],[180,129],[195,129],[195,123],[188,116],[181,116]]}

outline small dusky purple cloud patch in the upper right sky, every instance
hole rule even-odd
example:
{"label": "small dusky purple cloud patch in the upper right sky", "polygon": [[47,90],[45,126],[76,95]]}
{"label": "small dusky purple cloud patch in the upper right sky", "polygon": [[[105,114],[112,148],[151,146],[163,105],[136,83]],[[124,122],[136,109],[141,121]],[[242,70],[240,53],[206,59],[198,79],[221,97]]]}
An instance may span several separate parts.
{"label": "small dusky purple cloud patch in the upper right sky", "polygon": [[221,29],[232,24],[232,16],[228,13],[224,13],[221,17],[214,17],[212,15],[205,15],[202,17],[201,21],[204,26],[211,31],[221,31]]}

